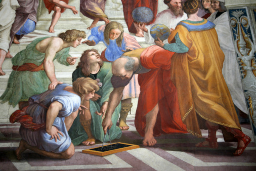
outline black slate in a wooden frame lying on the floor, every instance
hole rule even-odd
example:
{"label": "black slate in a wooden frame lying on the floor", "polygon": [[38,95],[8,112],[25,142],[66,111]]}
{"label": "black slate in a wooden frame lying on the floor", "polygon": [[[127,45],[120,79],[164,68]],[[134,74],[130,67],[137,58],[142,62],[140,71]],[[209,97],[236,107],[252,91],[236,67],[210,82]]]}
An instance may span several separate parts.
{"label": "black slate in a wooden frame lying on the floor", "polygon": [[95,148],[82,150],[82,152],[87,154],[105,156],[105,155],[114,154],[122,151],[136,149],[136,148],[140,148],[140,146],[134,145],[134,144],[126,144],[126,143],[113,143],[112,145],[109,144],[109,145],[103,146],[103,149],[102,147],[95,147]]}

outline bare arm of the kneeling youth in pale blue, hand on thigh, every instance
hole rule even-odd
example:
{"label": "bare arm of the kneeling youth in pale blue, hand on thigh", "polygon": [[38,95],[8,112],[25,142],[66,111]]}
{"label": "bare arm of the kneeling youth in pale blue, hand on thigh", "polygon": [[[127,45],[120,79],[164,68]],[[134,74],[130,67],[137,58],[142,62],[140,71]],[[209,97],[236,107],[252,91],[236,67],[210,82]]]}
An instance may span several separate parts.
{"label": "bare arm of the kneeling youth in pale blue, hand on thigh", "polygon": [[52,136],[50,140],[54,138],[56,142],[57,138],[60,140],[60,136],[58,133],[60,133],[63,136],[63,134],[55,126],[53,126],[53,122],[61,109],[62,104],[60,102],[55,101],[50,105],[46,114],[46,132]]}

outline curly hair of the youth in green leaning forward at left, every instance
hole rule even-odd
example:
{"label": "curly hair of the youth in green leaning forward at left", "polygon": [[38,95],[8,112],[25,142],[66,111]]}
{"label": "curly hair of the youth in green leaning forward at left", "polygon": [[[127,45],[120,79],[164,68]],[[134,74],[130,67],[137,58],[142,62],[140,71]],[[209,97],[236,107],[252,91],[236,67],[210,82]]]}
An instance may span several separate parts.
{"label": "curly hair of the youth in green leaning forward at left", "polygon": [[67,30],[64,33],[60,33],[58,37],[63,39],[63,41],[71,42],[76,40],[78,37],[86,38],[86,32],[75,29]]}

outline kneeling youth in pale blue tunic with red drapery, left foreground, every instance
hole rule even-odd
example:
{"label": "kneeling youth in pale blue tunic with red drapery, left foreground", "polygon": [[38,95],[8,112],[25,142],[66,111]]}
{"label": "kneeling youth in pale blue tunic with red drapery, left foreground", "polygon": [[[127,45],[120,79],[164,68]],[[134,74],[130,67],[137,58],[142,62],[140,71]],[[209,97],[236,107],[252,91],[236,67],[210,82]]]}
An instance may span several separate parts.
{"label": "kneeling youth in pale blue tunic with red drapery, left foreground", "polygon": [[22,140],[16,149],[17,159],[26,149],[51,158],[68,159],[75,153],[68,135],[73,120],[81,110],[80,104],[94,97],[99,90],[92,78],[78,78],[70,84],[59,84],[54,90],[29,98],[29,106],[17,110],[10,122],[20,122]]}

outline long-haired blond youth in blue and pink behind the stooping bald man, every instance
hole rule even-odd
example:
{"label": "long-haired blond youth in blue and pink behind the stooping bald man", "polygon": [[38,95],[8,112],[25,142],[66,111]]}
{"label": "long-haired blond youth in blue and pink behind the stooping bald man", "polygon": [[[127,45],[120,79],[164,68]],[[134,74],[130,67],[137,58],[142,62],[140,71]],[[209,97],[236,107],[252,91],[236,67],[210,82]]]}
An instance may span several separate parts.
{"label": "long-haired blond youth in blue and pink behind the stooping bald man", "polygon": [[[107,62],[113,62],[126,52],[141,48],[136,38],[130,34],[124,33],[122,24],[118,22],[110,22],[106,25],[95,27],[91,30],[88,40],[83,44],[95,46],[103,41],[107,47],[101,53],[101,59]],[[128,130],[126,124],[126,116],[132,107],[132,98],[138,98],[140,94],[140,86],[138,84],[138,76],[134,75],[132,81],[124,88],[122,96],[122,112],[120,113],[119,127],[121,130]],[[126,111],[128,110],[128,111]]]}

